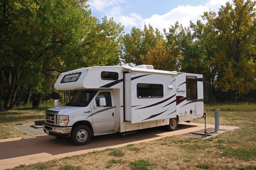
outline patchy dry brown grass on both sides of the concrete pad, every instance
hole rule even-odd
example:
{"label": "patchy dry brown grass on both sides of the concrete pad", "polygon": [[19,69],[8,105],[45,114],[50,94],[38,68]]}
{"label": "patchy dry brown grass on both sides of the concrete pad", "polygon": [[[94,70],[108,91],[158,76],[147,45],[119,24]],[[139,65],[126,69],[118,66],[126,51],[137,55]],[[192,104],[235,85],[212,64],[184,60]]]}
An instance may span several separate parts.
{"label": "patchy dry brown grass on both sides of the concrete pad", "polygon": [[[43,111],[18,110],[0,115],[0,127],[3,128],[12,127],[15,123],[26,123],[34,118],[42,119]],[[15,121],[11,122],[10,119]],[[204,123],[204,119],[196,119],[194,122]],[[207,112],[207,123],[214,124],[213,111]],[[13,169],[256,170],[256,112],[221,111],[220,124],[241,128],[204,140],[171,136],[29,166],[20,165]],[[21,132],[18,134],[22,136]]]}

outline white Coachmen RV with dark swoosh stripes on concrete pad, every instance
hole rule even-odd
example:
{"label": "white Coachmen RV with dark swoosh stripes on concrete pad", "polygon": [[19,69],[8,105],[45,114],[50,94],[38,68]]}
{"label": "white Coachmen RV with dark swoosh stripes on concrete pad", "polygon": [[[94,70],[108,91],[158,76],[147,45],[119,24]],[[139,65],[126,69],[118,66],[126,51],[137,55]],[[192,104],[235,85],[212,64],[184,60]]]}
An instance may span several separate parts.
{"label": "white Coachmen RV with dark swoosh stripes on concrete pad", "polygon": [[85,145],[91,136],[166,126],[203,114],[203,75],[136,67],[87,67],[60,74],[56,90],[76,90],[63,106],[47,109],[43,130]]}

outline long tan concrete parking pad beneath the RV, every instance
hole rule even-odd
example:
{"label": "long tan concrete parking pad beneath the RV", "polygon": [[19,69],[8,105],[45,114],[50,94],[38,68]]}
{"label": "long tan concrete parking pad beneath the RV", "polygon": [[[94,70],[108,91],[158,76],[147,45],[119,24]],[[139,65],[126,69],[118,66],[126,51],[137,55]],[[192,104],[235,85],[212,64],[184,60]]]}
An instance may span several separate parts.
{"label": "long tan concrete parking pad beneath the RV", "polygon": [[[214,125],[207,125],[214,128]],[[233,130],[239,127],[220,126],[220,129]],[[178,129],[169,132],[163,128],[138,130],[137,133],[122,136],[121,133],[95,136],[84,146],[75,146],[69,138],[58,139],[48,135],[17,137],[0,140],[0,170],[13,168],[20,164],[46,162],[61,157],[84,154],[107,148],[117,148],[128,144],[147,142],[166,136],[181,135],[204,129],[200,123],[180,123]]]}

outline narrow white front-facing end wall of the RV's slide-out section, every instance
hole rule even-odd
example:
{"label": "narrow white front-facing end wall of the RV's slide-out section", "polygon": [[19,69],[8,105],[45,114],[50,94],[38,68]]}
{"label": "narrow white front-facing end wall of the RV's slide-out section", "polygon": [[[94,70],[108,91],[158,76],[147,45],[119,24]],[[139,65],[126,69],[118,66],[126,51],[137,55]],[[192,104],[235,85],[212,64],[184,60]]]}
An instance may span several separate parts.
{"label": "narrow white front-facing end wall of the RV's slide-out section", "polygon": [[124,111],[125,120],[132,120],[131,73],[124,74]]}

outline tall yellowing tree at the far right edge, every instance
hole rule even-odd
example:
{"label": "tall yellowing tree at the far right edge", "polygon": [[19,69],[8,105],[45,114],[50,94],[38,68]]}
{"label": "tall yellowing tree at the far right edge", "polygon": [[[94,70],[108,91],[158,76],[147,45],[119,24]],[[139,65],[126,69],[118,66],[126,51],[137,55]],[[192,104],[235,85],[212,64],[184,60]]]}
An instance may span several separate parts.
{"label": "tall yellowing tree at the far right edge", "polygon": [[255,1],[233,0],[221,6],[218,16],[205,12],[205,31],[216,42],[211,60],[216,63],[216,85],[228,92],[231,99],[242,96],[256,87]]}

